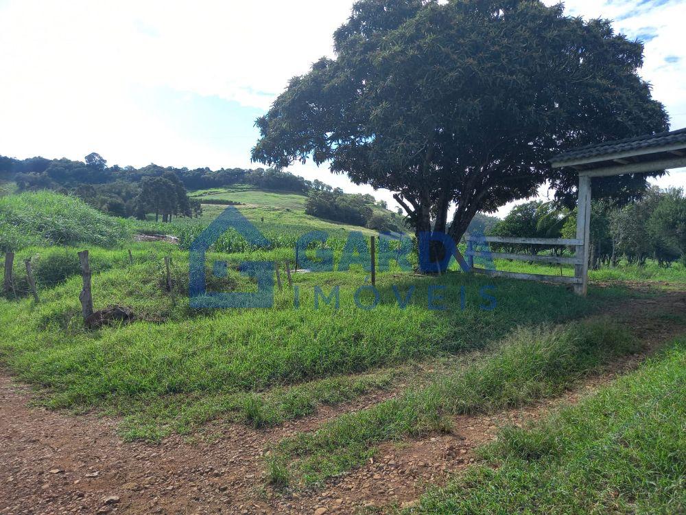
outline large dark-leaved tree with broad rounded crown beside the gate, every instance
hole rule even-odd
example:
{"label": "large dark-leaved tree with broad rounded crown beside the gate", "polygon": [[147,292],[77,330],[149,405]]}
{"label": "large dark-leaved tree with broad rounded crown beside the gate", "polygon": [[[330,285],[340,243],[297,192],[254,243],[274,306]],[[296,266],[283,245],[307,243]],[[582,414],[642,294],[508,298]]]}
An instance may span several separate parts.
{"label": "large dark-leaved tree with broad rounded crown beside the gate", "polygon": [[[293,78],[257,120],[252,159],[313,159],[387,188],[417,233],[449,227],[459,240],[477,211],[545,181],[569,201],[576,174],[550,168],[555,152],[667,128],[637,74],[643,45],[563,5],[362,0],[334,43],[335,59]],[[645,178],[594,187],[631,196]]]}

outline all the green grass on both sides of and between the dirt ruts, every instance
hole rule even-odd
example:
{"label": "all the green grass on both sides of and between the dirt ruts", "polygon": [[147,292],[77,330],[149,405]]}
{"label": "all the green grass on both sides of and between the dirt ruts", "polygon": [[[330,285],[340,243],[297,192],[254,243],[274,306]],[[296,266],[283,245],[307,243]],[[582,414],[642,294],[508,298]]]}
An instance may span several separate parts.
{"label": "all the green grass on both sides of and between the dirt ruts", "polygon": [[[231,200],[241,202],[268,199],[249,190],[204,193],[235,194]],[[329,231],[337,261],[348,231],[370,234],[287,207],[292,198],[281,201],[273,208],[247,201],[239,206],[274,244],[255,249],[226,235],[206,256],[209,291],[255,291],[255,279],[242,275],[239,264],[292,262],[293,244],[307,231]],[[187,248],[223,209],[204,205],[200,219],[155,224],[113,219],[75,198],[45,192],[1,197],[0,241],[16,257],[14,292],[0,297],[0,363],[34,386],[43,406],[117,417],[127,441],[201,434],[215,420],[261,430],[326,413],[324,407],[344,409],[371,394],[386,396],[265,448],[261,466],[271,485],[265,488],[274,492],[324,487],[332,477],[354,474],[383,444],[447,431],[456,415],[559,396],[639,349],[617,321],[580,319],[628,297],[660,295],[650,282],[677,289],[686,283],[679,264],[622,264],[592,272],[590,295],[582,298],[565,286],[490,279],[462,273],[455,264],[438,277],[392,267],[377,274],[376,300],[359,290],[369,285],[368,273],[353,266],[340,273],[295,273],[292,289],[282,273],[284,288],[274,290],[272,308],[192,309]],[[132,235],[141,231],[174,233],[181,244],[134,242]],[[84,248],[90,251],[95,309],[127,306],[134,322],[84,328],[77,258]],[[174,295],[165,290],[165,257],[171,258]],[[32,264],[39,303],[29,295],[24,260]],[[213,275],[215,260],[228,263],[224,277]],[[528,273],[556,270],[495,264]],[[629,290],[630,282],[641,282],[643,290]],[[484,449],[483,466],[431,490],[414,512],[683,507],[674,486],[683,477],[683,436],[675,433],[683,408],[661,397],[683,382],[683,345],[582,407],[540,427],[505,430],[499,444]],[[683,404],[683,389],[676,400]],[[659,409],[646,415],[646,402]],[[635,431],[617,433],[635,419],[641,421]]]}

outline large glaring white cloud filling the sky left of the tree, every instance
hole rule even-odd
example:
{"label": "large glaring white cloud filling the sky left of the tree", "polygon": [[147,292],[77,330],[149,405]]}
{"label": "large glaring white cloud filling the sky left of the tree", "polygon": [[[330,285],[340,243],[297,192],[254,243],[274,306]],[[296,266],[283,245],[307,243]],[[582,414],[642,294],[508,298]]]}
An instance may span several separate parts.
{"label": "large glaring white cloud filling the sky left of the tree", "polygon": [[[0,152],[141,165],[247,165],[136,102],[171,89],[266,108],[331,53],[351,1],[0,3]],[[252,127],[246,127],[246,131]],[[145,155],[147,152],[147,155]]]}

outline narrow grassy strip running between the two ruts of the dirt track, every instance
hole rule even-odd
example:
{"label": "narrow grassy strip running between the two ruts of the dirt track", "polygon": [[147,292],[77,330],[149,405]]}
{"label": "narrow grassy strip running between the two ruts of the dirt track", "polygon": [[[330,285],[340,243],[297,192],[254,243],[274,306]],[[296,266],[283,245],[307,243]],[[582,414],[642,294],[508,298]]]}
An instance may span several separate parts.
{"label": "narrow grassy strip running between the two ruts of the dirt track", "polygon": [[268,459],[268,479],[281,485],[286,479],[320,483],[363,464],[380,442],[443,431],[453,415],[490,412],[557,395],[614,356],[635,350],[630,334],[607,320],[520,328],[492,354],[428,387],[282,440]]}

